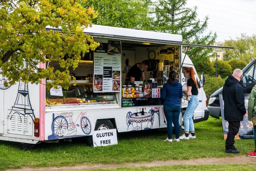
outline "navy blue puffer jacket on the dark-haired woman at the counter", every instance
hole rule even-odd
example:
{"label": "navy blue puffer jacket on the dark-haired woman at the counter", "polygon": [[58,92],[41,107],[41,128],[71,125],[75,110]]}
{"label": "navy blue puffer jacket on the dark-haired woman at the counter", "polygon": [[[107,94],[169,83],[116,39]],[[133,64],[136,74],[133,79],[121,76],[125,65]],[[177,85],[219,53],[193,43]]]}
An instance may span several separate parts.
{"label": "navy blue puffer jacket on the dark-haired woman at the counter", "polygon": [[165,83],[161,91],[161,99],[163,99],[163,105],[180,105],[180,98],[182,98],[182,86],[181,83],[176,82]]}

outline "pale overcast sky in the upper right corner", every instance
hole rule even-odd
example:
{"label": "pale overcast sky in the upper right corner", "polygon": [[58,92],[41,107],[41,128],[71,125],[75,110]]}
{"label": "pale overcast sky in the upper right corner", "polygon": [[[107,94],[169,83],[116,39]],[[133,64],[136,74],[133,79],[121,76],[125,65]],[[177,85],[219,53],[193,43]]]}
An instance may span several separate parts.
{"label": "pale overcast sky in the upper right corner", "polygon": [[256,34],[256,0],[187,0],[187,7],[193,6],[201,21],[209,17],[206,32],[216,32],[216,42]]}

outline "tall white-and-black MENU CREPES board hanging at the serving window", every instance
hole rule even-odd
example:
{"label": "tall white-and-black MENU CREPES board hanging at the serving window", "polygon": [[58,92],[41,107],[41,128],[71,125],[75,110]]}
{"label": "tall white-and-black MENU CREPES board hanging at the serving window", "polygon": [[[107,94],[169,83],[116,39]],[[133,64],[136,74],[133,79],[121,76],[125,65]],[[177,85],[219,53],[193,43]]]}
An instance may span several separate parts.
{"label": "tall white-and-black MENU CREPES board hanging at the serving window", "polygon": [[121,42],[95,39],[100,45],[94,51],[93,92],[121,91]]}

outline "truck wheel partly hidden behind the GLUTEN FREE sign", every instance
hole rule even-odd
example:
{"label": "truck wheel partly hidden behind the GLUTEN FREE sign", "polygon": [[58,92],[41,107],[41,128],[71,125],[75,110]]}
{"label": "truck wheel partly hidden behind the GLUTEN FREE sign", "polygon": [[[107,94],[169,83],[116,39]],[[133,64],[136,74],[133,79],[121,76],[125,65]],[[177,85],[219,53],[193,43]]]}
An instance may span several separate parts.
{"label": "truck wheel partly hidden behind the GLUTEN FREE sign", "polygon": [[[113,124],[108,119],[100,119],[96,122],[94,131],[114,129]],[[87,136],[87,144],[93,146],[93,136]]]}

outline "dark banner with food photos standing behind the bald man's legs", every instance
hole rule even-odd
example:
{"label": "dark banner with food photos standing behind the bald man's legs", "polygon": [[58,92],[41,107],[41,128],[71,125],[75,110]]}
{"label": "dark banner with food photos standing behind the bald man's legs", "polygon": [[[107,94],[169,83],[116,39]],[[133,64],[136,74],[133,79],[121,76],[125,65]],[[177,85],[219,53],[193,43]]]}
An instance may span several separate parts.
{"label": "dark banner with food photos standing behind the bald man's legs", "polygon": [[[247,114],[249,96],[250,94],[245,94],[246,114],[244,115],[244,119],[240,122],[240,128],[239,128],[238,134],[235,136],[235,139],[237,140],[254,138],[253,125],[251,121],[248,121],[248,114]],[[224,140],[226,140],[229,124],[228,124],[228,121],[224,120],[224,101],[223,101],[222,95],[219,95],[219,97],[220,97],[220,106],[221,106],[221,120],[222,120],[223,134],[224,134]]]}

